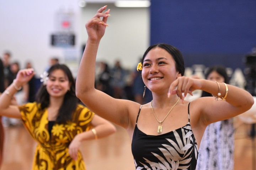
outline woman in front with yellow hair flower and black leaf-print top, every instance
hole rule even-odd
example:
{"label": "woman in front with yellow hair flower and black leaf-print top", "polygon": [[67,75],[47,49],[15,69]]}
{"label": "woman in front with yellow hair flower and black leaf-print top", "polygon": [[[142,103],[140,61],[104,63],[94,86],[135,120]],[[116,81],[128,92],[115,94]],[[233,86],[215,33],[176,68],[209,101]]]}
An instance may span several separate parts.
{"label": "woman in front with yellow hair flower and black leaf-print top", "polygon": [[[105,10],[106,6],[101,7],[85,24],[88,38],[76,78],[76,95],[102,118],[127,130],[135,169],[195,170],[207,125],[249,110],[253,97],[232,85],[183,76],[181,52],[165,43],[151,45],[137,67],[152,92],[151,102],[141,105],[96,90],[95,61],[110,17],[110,10]],[[185,101],[194,90],[214,97]]]}

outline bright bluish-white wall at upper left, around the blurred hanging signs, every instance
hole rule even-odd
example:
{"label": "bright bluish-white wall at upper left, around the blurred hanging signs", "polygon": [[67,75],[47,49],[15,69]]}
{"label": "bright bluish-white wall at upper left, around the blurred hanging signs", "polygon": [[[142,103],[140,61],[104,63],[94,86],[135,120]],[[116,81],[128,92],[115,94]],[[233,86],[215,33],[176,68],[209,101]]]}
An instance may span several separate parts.
{"label": "bright bluish-white wall at upper left, around the blurred hanging signs", "polygon": [[[74,11],[74,31],[80,34],[80,8],[74,0],[0,0],[0,4],[0,56],[9,50],[12,61],[19,61],[21,68],[30,60],[37,74],[41,74],[50,57],[59,56],[63,61],[63,49],[50,46],[50,34],[57,31],[55,15],[60,8]],[[79,39],[77,42],[80,44]]]}

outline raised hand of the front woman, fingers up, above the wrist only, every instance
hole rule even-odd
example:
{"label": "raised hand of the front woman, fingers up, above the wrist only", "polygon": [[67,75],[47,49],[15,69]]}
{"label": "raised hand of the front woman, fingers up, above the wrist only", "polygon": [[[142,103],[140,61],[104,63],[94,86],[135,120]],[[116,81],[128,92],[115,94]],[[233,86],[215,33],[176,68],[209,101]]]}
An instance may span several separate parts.
{"label": "raised hand of the front woman, fingers up, above the wrist only", "polygon": [[110,9],[103,13],[106,7],[107,6],[101,7],[96,15],[85,24],[89,40],[99,41],[104,35],[106,26],[108,26],[107,18],[110,16]]}

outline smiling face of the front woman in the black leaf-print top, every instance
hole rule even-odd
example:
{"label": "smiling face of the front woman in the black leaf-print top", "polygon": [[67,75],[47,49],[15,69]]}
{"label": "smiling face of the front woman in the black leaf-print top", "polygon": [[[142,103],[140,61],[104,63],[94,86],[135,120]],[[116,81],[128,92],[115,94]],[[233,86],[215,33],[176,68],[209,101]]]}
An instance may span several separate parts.
{"label": "smiling face of the front woman in the black leaf-print top", "polygon": [[167,94],[171,83],[177,77],[181,77],[181,74],[177,72],[175,61],[169,52],[155,47],[146,54],[143,61],[142,78],[149,90]]}

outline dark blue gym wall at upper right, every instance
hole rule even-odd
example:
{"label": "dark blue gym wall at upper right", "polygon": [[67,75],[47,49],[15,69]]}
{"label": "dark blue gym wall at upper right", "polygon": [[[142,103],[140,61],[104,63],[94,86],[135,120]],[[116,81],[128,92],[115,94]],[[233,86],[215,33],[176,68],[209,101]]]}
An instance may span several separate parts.
{"label": "dark blue gym wall at upper right", "polygon": [[256,0],[151,0],[150,44],[181,50],[186,67],[243,68],[256,47]]}

